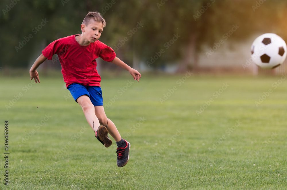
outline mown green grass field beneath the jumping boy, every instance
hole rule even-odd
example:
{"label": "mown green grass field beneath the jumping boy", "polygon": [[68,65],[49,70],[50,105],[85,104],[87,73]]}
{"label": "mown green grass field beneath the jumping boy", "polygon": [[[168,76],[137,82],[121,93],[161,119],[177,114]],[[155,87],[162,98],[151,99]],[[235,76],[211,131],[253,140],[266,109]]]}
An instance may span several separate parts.
{"label": "mown green grass field beneath the jumping boy", "polygon": [[106,115],[131,143],[123,168],[61,77],[29,79],[1,78],[0,189],[287,189],[284,76],[103,77]]}

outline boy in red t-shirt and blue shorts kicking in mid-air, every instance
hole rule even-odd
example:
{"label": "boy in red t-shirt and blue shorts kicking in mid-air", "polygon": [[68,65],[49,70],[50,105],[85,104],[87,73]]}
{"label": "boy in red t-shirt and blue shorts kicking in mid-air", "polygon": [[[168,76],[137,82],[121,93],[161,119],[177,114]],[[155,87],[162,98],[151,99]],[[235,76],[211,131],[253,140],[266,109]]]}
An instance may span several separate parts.
{"label": "boy in red t-shirt and blue shorts kicking in mid-air", "polygon": [[101,57],[126,69],[137,81],[141,74],[117,58],[113,49],[98,41],[105,26],[106,22],[100,13],[89,12],[81,25],[82,34],[55,40],[42,51],[30,69],[30,80],[34,78],[36,83],[40,82],[36,69],[47,58],[52,59],[54,54],[58,54],[67,89],[82,107],[97,139],[106,147],[112,144],[108,133],[115,139],[118,147],[117,166],[123,167],[129,161],[130,143],[122,139],[115,124],[106,117],[100,88],[101,77],[96,70],[95,59]]}

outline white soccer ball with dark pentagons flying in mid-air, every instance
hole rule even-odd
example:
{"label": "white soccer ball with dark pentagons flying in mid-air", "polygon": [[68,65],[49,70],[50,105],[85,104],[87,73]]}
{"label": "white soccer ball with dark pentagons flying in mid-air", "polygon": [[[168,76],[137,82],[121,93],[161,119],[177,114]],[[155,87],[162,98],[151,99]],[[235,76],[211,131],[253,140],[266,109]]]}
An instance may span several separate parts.
{"label": "white soccer ball with dark pentagons flying in mid-air", "polygon": [[251,57],[254,63],[263,69],[278,67],[284,62],[286,55],[286,43],[276,34],[263,34],[257,37],[251,46]]}

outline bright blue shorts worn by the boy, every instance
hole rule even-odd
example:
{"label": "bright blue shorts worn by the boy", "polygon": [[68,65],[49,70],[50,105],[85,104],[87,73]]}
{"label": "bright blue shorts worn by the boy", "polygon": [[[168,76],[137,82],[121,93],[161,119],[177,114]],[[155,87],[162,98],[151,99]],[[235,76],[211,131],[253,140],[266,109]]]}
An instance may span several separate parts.
{"label": "bright blue shorts worn by the boy", "polygon": [[89,96],[94,106],[103,106],[102,89],[100,86],[83,86],[80,84],[70,84],[67,89],[71,92],[74,100],[83,95]]}

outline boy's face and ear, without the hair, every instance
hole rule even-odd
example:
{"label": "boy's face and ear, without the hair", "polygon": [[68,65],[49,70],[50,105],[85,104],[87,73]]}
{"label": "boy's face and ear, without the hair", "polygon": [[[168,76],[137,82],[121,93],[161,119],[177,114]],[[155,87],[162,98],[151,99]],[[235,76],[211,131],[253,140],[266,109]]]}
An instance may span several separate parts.
{"label": "boy's face and ear, without the hair", "polygon": [[97,22],[91,19],[88,26],[82,26],[83,36],[85,36],[89,42],[94,43],[100,38],[103,28],[104,25],[101,22]]}

